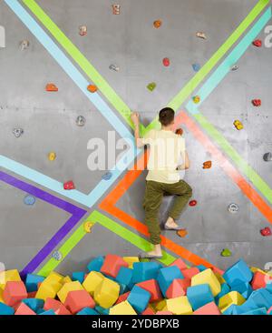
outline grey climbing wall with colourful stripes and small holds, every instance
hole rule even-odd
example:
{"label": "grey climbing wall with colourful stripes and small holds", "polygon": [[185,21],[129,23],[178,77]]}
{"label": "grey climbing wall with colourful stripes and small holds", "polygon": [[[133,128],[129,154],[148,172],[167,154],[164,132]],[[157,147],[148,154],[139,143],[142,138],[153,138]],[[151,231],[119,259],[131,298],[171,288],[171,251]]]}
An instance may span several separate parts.
{"label": "grey climbing wall with colourful stripes and small holds", "polygon": [[[45,276],[81,270],[98,255],[148,250],[146,171],[131,170],[144,156],[129,145],[130,113],[141,113],[147,133],[168,105],[186,139],[185,180],[197,205],[180,217],[186,237],[162,232],[162,263],[182,257],[225,269],[243,258],[265,267],[272,261],[271,237],[260,232],[272,222],[272,164],[263,158],[272,151],[271,4],[119,0],[119,15],[112,5],[0,3],[0,261]],[[46,91],[48,84],[58,91]],[[106,157],[106,167],[90,170],[90,140],[104,142],[107,155],[113,136],[128,143],[116,151],[121,167]],[[75,189],[64,189],[67,181]],[[161,223],[169,205],[165,198]]]}

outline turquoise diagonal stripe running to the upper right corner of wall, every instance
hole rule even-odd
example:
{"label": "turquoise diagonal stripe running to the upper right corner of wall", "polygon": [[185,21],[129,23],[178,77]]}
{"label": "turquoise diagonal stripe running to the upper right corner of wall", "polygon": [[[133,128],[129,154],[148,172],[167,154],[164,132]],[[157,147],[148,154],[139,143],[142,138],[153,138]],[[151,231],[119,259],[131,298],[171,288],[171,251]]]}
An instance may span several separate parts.
{"label": "turquoise diagonal stripe running to the upper right corner of wall", "polygon": [[198,105],[189,101],[186,108],[192,115],[199,114],[199,106],[206,100],[206,98],[212,93],[212,91],[219,86],[219,83],[231,70],[231,67],[236,65],[239,58],[247,51],[248,46],[261,32],[263,27],[267,24],[271,18],[271,6],[267,8],[267,11],[262,15],[257,23],[248,31],[248,34],[239,42],[239,44],[233,49],[233,51],[226,57],[217,70],[209,77],[206,83],[195,94],[200,96],[200,103]]}

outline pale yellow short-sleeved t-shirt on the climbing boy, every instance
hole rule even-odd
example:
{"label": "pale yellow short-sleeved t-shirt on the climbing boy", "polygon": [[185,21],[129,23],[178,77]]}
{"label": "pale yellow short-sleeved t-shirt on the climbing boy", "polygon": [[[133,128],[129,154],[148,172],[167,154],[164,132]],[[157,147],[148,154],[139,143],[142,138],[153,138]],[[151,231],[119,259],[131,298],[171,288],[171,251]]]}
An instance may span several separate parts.
{"label": "pale yellow short-sleeved t-shirt on the climbing boy", "polygon": [[142,139],[143,145],[150,146],[148,176],[146,180],[174,184],[180,181],[177,167],[180,157],[184,161],[185,140],[172,131],[152,129]]}

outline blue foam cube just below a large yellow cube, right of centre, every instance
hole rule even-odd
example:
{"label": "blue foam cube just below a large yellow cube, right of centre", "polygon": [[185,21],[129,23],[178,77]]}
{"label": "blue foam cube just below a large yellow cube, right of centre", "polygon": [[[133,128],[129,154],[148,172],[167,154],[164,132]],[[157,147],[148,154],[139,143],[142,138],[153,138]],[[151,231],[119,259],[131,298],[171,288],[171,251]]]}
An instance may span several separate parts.
{"label": "blue foam cube just below a large yellow cube, right of centre", "polygon": [[213,295],[207,284],[189,287],[187,289],[187,298],[194,311],[210,302],[214,302]]}

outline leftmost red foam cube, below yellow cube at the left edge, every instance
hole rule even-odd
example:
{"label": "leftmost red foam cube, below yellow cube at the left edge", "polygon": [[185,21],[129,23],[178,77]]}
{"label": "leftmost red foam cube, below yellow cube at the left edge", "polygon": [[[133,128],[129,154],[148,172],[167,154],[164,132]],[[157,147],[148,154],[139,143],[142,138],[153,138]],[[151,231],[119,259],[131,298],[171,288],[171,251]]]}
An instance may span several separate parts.
{"label": "leftmost red foam cube, below yellow cube at the left edge", "polygon": [[27,291],[23,281],[8,281],[3,291],[5,304],[15,307],[22,299],[27,298]]}

